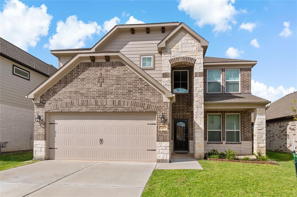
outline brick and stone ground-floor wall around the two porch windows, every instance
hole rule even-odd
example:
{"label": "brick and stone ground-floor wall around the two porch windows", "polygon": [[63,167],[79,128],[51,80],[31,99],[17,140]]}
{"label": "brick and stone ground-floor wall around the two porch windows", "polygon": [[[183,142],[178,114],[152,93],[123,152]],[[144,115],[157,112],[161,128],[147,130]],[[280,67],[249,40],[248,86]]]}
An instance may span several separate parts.
{"label": "brick and stone ground-floor wall around the two porch windows", "polygon": [[[222,114],[222,142],[207,142],[207,114]],[[226,114],[240,114],[240,138],[241,142],[226,142]],[[224,152],[230,148],[238,154],[252,154],[252,126],[251,113],[247,111],[204,111],[204,152],[209,152],[211,149],[216,149],[219,152]]]}

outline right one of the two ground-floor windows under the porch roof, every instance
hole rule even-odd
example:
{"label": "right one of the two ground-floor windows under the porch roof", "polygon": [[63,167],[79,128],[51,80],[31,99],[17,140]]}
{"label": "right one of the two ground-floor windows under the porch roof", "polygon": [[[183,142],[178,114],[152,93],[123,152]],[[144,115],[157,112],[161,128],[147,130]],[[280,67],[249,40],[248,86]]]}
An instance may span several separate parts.
{"label": "right one of the two ground-floor windows under the porch roof", "polygon": [[226,114],[226,142],[240,142],[240,114]]}

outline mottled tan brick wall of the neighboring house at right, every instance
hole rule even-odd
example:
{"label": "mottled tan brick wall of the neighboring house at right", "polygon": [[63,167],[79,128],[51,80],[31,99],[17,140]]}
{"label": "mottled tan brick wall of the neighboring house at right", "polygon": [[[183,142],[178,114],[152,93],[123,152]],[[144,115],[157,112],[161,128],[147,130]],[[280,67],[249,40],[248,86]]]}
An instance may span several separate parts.
{"label": "mottled tan brick wall of the neighboring house at right", "polygon": [[[297,146],[297,123],[292,118],[278,122],[266,122],[266,149],[293,153]],[[297,147],[296,151],[297,151]]]}

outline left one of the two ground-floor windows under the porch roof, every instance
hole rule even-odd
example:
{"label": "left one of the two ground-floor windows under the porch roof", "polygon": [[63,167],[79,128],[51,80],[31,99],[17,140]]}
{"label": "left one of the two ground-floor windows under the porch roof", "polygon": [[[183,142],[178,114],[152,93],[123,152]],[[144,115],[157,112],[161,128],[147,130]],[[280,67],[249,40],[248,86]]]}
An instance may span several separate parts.
{"label": "left one of the two ground-floor windows under the porch roof", "polygon": [[207,115],[208,142],[222,141],[222,114]]}

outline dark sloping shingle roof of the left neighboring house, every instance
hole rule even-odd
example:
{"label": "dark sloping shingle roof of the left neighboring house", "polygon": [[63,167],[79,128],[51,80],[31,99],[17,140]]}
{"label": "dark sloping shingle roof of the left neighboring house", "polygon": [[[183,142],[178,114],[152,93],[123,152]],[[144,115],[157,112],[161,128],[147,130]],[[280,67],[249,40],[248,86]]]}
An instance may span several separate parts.
{"label": "dark sloping shingle roof of the left neighboring house", "polygon": [[0,52],[1,54],[26,64],[27,66],[32,67],[32,69],[36,69],[45,75],[52,75],[57,70],[57,68],[53,65],[41,61],[40,59],[27,53],[26,51],[23,51],[12,43],[4,40],[3,38],[0,38]]}

